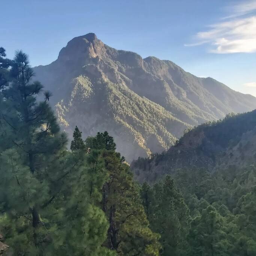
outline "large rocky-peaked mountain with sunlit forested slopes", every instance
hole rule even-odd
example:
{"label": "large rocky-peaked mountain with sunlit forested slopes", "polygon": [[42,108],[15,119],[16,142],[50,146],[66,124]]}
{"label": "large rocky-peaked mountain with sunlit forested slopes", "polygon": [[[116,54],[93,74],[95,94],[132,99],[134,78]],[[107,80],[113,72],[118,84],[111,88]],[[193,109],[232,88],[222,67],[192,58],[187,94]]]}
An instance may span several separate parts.
{"label": "large rocky-peaked mountain with sunlit forested slopes", "polygon": [[76,125],[84,138],[108,130],[128,161],[167,150],[187,128],[256,108],[251,95],[171,61],[116,50],[93,33],[73,38],[34,72],[70,137]]}

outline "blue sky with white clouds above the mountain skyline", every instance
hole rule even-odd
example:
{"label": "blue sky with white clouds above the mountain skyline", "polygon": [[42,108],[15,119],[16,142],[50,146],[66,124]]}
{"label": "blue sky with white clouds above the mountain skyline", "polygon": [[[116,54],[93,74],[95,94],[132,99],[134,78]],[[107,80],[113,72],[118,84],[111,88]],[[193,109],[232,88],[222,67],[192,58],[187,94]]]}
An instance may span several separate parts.
{"label": "blue sky with white clouds above the mountain skyline", "polygon": [[256,0],[10,0],[1,2],[0,46],[49,64],[75,36],[174,61],[256,96]]}

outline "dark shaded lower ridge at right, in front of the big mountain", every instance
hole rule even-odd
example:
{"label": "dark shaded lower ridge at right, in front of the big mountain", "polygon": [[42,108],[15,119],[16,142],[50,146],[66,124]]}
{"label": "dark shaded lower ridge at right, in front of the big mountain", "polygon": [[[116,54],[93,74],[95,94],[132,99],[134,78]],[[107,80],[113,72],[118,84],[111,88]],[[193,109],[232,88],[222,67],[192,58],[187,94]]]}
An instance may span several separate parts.
{"label": "dark shaded lower ridge at right, in front of the big mountain", "polygon": [[256,110],[230,114],[222,121],[189,130],[162,154],[133,161],[136,179],[154,182],[180,169],[205,168],[210,172],[241,169],[256,163]]}

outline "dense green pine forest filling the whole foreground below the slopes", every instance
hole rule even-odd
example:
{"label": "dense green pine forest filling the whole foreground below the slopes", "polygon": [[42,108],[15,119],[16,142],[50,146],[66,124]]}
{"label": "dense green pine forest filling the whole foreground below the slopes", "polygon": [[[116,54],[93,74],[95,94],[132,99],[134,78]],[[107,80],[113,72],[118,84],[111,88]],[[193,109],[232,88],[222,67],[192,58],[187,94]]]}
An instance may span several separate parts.
{"label": "dense green pine forest filling the whole foreground below the slopes", "polygon": [[73,127],[67,148],[51,92],[33,75],[27,54],[8,60],[0,48],[0,254],[256,255],[254,165],[188,165],[139,184],[108,132],[84,138]]}

